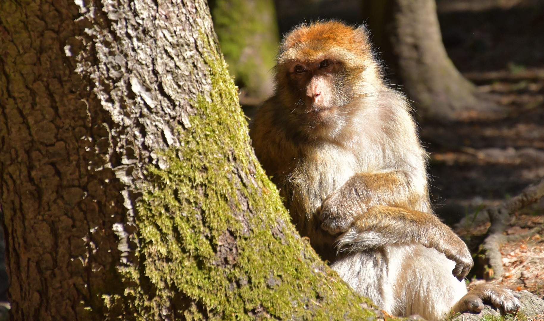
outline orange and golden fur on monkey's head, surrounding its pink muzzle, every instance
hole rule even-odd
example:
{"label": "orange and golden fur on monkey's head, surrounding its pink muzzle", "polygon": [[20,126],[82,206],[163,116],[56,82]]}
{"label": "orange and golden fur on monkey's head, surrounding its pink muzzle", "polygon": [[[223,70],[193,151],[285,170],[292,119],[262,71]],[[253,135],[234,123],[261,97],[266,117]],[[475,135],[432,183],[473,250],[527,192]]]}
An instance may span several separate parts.
{"label": "orange and golden fur on monkey's head, surrounding its pink muzzle", "polygon": [[[302,91],[307,89],[308,84],[294,80],[294,66],[298,64],[315,70],[312,66],[323,60],[330,60],[335,68],[335,83],[331,83],[333,88],[330,92],[337,100],[337,107],[343,109],[333,117],[328,117],[329,122],[319,122],[316,119],[318,130],[313,134],[323,136],[327,133],[326,135],[335,136],[342,124],[345,124],[341,114],[349,112],[350,109],[345,105],[374,92],[384,82],[364,27],[351,27],[338,21],[301,24],[286,35],[277,56],[276,92],[280,93],[283,106],[291,110],[298,108],[296,106],[300,106],[304,96]],[[305,124],[302,125],[305,127]],[[294,126],[298,127],[298,124]]]}

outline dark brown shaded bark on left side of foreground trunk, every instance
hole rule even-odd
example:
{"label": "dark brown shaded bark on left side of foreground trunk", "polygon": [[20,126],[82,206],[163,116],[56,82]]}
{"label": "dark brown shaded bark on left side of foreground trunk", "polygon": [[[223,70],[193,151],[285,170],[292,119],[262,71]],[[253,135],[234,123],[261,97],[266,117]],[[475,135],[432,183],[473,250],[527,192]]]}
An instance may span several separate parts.
{"label": "dark brown shaded bark on left side of foreground trunk", "polygon": [[123,187],[102,157],[115,126],[86,89],[90,74],[74,72],[79,52],[92,55],[76,38],[87,41],[92,25],[78,16],[66,1],[0,2],[0,193],[12,320],[81,319],[88,307],[100,313],[96,293],[122,294],[113,226],[124,223]]}

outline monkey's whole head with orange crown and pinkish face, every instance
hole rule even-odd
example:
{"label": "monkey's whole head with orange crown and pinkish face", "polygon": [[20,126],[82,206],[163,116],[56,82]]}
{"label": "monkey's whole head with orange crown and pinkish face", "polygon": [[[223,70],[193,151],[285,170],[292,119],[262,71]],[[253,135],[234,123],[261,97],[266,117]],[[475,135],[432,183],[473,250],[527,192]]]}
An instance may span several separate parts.
{"label": "monkey's whole head with orange crown and pinkish face", "polygon": [[336,136],[354,100],[382,84],[364,28],[337,21],[295,27],[283,39],[275,71],[290,122],[317,139]]}

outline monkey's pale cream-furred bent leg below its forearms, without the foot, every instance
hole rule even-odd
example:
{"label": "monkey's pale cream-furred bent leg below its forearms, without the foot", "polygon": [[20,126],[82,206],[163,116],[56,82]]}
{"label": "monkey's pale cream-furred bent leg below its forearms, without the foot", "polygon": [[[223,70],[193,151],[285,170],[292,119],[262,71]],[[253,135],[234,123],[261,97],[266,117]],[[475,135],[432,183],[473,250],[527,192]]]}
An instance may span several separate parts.
{"label": "monkey's pale cream-furred bent leg below its forearms, without the foot", "polygon": [[450,271],[455,263],[421,244],[355,251],[331,268],[358,293],[394,316],[440,320],[467,293]]}

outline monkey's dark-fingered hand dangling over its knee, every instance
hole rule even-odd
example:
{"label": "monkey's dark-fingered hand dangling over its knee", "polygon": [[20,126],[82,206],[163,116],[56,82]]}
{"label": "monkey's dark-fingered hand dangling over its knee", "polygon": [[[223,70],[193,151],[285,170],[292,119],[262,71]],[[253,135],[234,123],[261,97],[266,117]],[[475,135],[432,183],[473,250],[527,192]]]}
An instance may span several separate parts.
{"label": "monkey's dark-fingered hand dangling over its knee", "polygon": [[459,281],[464,279],[474,265],[467,244],[465,244],[465,242],[449,228],[438,231],[435,237],[430,238],[434,238],[434,240],[431,241],[431,243],[434,244],[424,245],[427,247],[434,247],[437,251],[444,253],[448,259],[454,261],[456,264],[452,274],[456,276]]}

